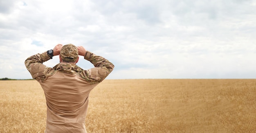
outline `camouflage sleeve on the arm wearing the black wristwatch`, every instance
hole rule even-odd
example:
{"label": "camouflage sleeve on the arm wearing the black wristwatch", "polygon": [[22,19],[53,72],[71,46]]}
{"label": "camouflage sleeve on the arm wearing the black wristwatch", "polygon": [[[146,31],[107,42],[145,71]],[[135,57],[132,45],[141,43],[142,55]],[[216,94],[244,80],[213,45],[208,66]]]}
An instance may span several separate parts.
{"label": "camouflage sleeve on the arm wearing the black wristwatch", "polygon": [[45,66],[43,62],[46,62],[49,59],[49,55],[45,52],[32,55],[25,60],[25,66],[32,78],[36,79],[38,82],[43,82],[45,80],[45,75],[51,68]]}

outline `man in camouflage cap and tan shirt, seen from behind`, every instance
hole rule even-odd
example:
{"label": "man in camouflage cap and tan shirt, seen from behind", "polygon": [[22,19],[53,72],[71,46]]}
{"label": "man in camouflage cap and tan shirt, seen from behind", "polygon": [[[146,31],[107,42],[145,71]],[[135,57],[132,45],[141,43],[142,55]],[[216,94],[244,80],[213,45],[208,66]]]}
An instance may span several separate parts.
{"label": "man in camouflage cap and tan shirt, seen from behind", "polygon": [[[59,55],[53,68],[43,64]],[[76,63],[79,55],[95,67],[83,70]],[[43,88],[47,104],[45,133],[87,133],[85,117],[90,91],[104,80],[114,65],[82,46],[58,44],[53,50],[38,53],[25,60],[27,70]]]}

